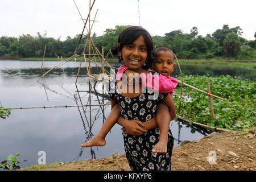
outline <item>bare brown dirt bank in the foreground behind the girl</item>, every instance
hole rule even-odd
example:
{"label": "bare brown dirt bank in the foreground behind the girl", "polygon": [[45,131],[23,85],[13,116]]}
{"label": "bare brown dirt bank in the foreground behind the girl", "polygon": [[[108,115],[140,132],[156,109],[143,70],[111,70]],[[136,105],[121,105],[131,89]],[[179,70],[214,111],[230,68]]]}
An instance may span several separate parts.
{"label": "bare brown dirt bank in the foreground behind the girl", "polygon": [[[256,128],[246,133],[211,133],[207,137],[172,151],[173,171],[255,171],[256,170]],[[109,158],[88,159],[79,162],[36,165],[22,170],[49,171],[130,171],[125,155],[113,154]]]}

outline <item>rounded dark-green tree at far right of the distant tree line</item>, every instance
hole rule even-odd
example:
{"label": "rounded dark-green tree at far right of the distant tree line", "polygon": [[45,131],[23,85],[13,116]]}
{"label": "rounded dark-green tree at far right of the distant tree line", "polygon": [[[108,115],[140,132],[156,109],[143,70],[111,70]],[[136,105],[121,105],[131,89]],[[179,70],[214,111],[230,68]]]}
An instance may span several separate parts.
{"label": "rounded dark-green tree at far right of the distant tree line", "polygon": [[229,56],[236,55],[241,49],[241,43],[238,36],[234,32],[230,32],[226,35],[226,38],[223,41],[225,52]]}

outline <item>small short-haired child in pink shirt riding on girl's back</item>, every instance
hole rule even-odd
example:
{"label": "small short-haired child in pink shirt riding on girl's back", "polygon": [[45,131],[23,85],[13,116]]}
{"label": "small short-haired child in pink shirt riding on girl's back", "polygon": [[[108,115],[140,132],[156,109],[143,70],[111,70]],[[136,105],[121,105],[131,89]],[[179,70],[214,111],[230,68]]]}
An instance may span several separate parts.
{"label": "small short-haired child in pink shirt riding on girl's back", "polygon": [[[150,75],[151,76],[150,80],[154,82],[154,79],[158,77],[159,86],[158,88],[154,88],[154,85],[153,86],[148,85],[146,82],[146,75],[142,73],[141,80],[142,80],[143,86],[145,87],[150,86],[150,88],[157,90],[159,93],[169,92],[169,94],[172,96],[172,94],[174,93],[174,88],[177,86],[177,79],[174,77],[170,77],[172,71],[174,71],[174,68],[175,68],[174,53],[168,47],[165,47],[165,46],[156,47],[152,51],[151,59],[152,59],[151,68],[154,71],[161,73],[161,75],[160,76]],[[125,65],[121,65],[117,73],[125,73],[127,75],[127,74],[134,73],[134,71],[130,71]],[[171,102],[171,104],[174,106],[173,101]],[[152,148],[152,152],[154,153],[159,152],[164,154],[167,151],[168,128],[170,126],[170,122],[176,116],[176,111],[172,110],[170,114],[167,106],[163,102],[160,102],[157,106],[157,112],[156,112],[156,123],[158,124],[158,127],[160,129],[160,136],[159,136],[159,142],[156,143],[155,146]]]}

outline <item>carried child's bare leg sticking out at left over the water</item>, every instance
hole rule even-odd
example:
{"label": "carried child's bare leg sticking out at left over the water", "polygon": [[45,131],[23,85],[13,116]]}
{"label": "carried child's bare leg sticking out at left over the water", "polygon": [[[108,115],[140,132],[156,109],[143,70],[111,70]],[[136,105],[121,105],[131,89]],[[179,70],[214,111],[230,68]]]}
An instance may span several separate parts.
{"label": "carried child's bare leg sticking out at left over the water", "polygon": [[81,147],[93,147],[93,146],[105,146],[106,144],[106,135],[109,133],[110,129],[114,126],[117,122],[120,115],[120,107],[116,104],[112,111],[109,113],[106,121],[103,123],[100,132],[93,137],[92,139],[88,140],[85,143],[81,144]]}

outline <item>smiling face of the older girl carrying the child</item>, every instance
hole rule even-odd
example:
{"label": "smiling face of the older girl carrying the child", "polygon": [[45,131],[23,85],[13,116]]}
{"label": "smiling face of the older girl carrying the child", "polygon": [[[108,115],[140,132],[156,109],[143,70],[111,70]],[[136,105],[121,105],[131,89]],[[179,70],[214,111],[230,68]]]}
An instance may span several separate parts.
{"label": "smiling face of the older girl carrying the child", "polygon": [[143,70],[142,65],[147,59],[147,45],[142,35],[133,43],[124,45],[118,53],[122,55],[126,67],[138,73]]}

